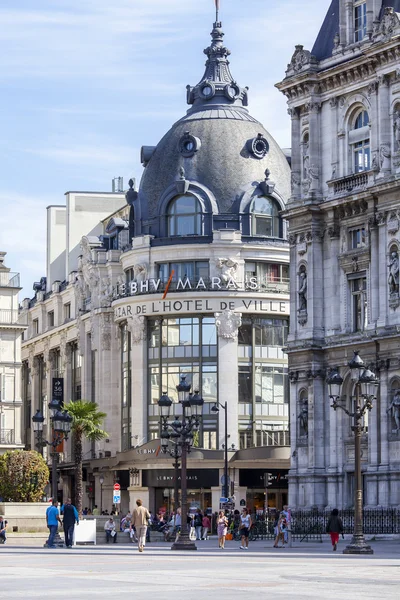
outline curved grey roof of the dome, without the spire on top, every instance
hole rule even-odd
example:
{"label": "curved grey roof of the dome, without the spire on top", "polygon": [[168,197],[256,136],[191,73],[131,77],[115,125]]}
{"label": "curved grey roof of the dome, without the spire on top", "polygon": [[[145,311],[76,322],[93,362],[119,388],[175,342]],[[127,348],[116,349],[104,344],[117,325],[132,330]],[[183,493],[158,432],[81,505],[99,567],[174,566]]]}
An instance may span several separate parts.
{"label": "curved grey roof of the dome, without the spire on top", "polygon": [[[193,157],[179,152],[179,141],[189,132],[201,141]],[[269,143],[265,158],[252,156],[248,140],[261,133]],[[208,188],[220,213],[235,210],[244,192],[271,172],[276,191],[286,200],[290,196],[290,167],[273,137],[243,108],[220,106],[188,114],[175,123],[157,145],[146,166],[139,189],[141,204],[148,217],[154,217],[165,190],[178,178],[184,167],[186,179]],[[142,204],[142,210],[144,206]]]}

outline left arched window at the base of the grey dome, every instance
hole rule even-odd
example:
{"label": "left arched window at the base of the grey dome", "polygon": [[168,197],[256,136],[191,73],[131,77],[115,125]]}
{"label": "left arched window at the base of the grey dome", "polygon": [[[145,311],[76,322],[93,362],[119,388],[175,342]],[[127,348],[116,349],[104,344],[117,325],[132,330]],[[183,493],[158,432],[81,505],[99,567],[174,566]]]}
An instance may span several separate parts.
{"label": "left arched window at the base of the grey dome", "polygon": [[194,196],[178,196],[168,205],[168,235],[201,235],[201,205]]}

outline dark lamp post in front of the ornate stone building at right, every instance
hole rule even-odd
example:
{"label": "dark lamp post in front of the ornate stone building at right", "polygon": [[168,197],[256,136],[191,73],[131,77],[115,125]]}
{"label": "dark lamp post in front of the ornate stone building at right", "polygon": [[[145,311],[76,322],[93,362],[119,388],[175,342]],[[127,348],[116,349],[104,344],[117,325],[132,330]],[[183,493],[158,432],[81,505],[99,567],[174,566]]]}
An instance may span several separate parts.
{"label": "dark lamp post in front of the ornate stone building at right", "polygon": [[354,419],[352,430],[354,431],[354,532],[348,546],[343,554],[373,554],[364,538],[363,533],[363,489],[361,474],[361,434],[364,431],[363,418],[367,411],[372,409],[372,403],[376,399],[375,387],[379,385],[376,375],[367,369],[358,352],[354,352],[352,360],[348,363],[351,372],[351,380],[355,384],[355,407],[348,410],[340,403],[340,390],[343,379],[339,369],[334,369],[327,383],[329,386],[329,397],[332,400],[332,408],[338,408]]}

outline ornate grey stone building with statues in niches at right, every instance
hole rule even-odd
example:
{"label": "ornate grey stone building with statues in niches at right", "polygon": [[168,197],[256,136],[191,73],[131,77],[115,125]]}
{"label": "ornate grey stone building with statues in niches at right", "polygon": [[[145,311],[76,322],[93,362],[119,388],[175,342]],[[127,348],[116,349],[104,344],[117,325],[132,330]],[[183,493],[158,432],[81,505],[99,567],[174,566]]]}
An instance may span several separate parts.
{"label": "ornate grey stone building with statues in niches at right", "polygon": [[[359,350],[379,376],[362,442],[364,503],[400,504],[400,2],[333,0],[278,84],[292,122],[290,503],[353,505],[351,421],[325,378]],[[397,406],[397,408],[396,408]]]}

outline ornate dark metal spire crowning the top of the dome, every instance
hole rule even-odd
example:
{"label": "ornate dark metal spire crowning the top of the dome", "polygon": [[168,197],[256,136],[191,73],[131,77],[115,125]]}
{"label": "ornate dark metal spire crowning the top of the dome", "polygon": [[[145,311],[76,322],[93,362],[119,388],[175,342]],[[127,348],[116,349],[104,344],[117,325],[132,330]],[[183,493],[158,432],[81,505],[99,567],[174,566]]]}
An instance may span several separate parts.
{"label": "ornate dark metal spire crowning the top of the dome", "polygon": [[204,50],[207,55],[206,69],[204,75],[197,85],[187,86],[188,104],[198,105],[201,108],[211,105],[224,104],[236,106],[247,106],[247,91],[249,88],[241,88],[229,69],[228,56],[230,50],[224,46],[222,23],[218,20],[219,2],[216,2],[216,18],[211,32],[211,45]]}

